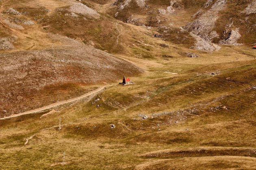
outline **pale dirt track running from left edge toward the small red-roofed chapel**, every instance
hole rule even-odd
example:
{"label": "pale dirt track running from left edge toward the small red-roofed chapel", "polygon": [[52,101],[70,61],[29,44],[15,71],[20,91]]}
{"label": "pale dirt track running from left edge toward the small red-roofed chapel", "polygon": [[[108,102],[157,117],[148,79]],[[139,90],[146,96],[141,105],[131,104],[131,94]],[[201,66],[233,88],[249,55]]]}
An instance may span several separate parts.
{"label": "pale dirt track running from left edge toward the small red-roofed chapel", "polygon": [[55,106],[59,106],[61,104],[71,103],[71,102],[74,102],[76,100],[80,100],[82,98],[85,98],[87,96],[95,94],[95,93],[103,90],[105,87],[111,87],[111,86],[113,86],[113,85],[103,86],[103,87],[100,87],[100,88],[98,88],[98,89],[96,89],[94,91],[90,91],[89,93],[84,94],[84,95],[79,96],[79,97],[76,97],[76,98],[72,98],[72,99],[69,99],[69,100],[64,100],[62,102],[53,103],[53,104],[50,104],[48,106],[43,106],[41,108],[37,108],[37,109],[34,109],[34,110],[29,110],[29,111],[26,111],[26,112],[23,112],[23,113],[19,113],[19,114],[16,114],[16,115],[12,115],[12,116],[9,116],[9,117],[3,117],[3,118],[0,118],[0,120],[10,119],[10,118],[18,117],[18,116],[21,116],[21,115],[28,115],[28,114],[31,114],[31,113],[37,113],[37,112],[40,112],[40,111],[43,111],[43,110],[46,110],[46,109],[49,109],[49,108],[52,108],[52,107],[55,107]]}

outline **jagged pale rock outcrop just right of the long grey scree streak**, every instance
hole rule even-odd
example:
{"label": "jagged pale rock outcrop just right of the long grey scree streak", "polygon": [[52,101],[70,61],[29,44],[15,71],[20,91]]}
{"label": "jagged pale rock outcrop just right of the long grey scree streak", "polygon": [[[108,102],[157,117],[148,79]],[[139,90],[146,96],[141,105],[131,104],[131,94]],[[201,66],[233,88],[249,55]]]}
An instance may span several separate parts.
{"label": "jagged pale rock outcrop just right of the long grey scree streak", "polygon": [[225,30],[224,31],[225,39],[219,41],[219,44],[221,45],[243,45],[237,43],[237,40],[241,38],[241,34],[239,34],[239,28],[236,28],[236,30]]}

